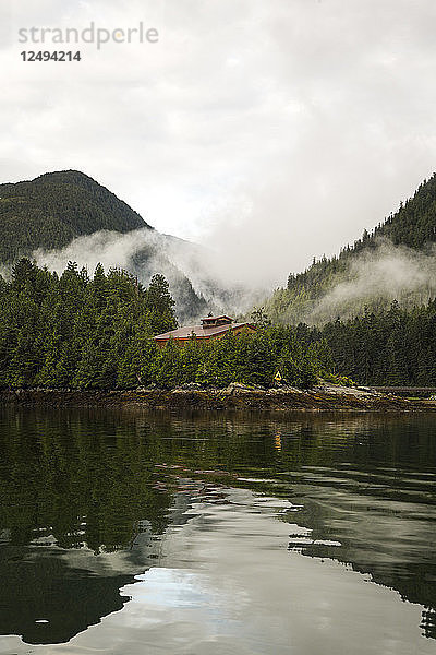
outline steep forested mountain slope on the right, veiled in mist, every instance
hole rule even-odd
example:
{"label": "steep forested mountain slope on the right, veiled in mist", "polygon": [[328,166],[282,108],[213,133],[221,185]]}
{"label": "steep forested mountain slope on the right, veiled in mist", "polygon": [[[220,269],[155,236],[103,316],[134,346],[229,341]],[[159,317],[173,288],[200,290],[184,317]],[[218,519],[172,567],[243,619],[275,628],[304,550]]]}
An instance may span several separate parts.
{"label": "steep forested mountain slope on the right, veiled in mist", "polygon": [[436,174],[353,246],[291,273],[265,310],[274,321],[322,324],[389,307],[393,299],[405,309],[425,303],[436,296],[435,242]]}

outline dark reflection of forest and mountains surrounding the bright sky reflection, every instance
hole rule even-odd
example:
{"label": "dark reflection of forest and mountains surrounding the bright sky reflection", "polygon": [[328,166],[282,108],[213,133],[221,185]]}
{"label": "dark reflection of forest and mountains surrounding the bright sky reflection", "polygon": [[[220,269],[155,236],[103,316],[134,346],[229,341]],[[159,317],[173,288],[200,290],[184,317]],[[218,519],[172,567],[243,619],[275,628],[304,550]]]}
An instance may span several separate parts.
{"label": "dark reflection of forest and mountains surrounding the bright sky reflection", "polygon": [[[195,525],[183,568],[211,521],[216,538],[230,529],[221,510],[234,509],[240,488],[255,493],[237,514],[240,538],[251,539],[245,549],[261,548],[259,535],[249,534],[258,529],[250,513],[270,515],[270,503],[282,502],[272,513],[288,562],[301,555],[338,561],[396,590],[422,606],[422,631],[435,638],[434,429],[425,416],[3,409],[0,633],[68,642],[120,610],[141,581],[154,581],[144,587],[149,606],[159,584],[172,598],[168,571],[179,570],[181,557],[174,535]],[[265,551],[272,569],[270,540]],[[254,555],[244,556],[252,568]],[[182,579],[189,604],[196,577]],[[207,605],[202,594],[196,603]]]}

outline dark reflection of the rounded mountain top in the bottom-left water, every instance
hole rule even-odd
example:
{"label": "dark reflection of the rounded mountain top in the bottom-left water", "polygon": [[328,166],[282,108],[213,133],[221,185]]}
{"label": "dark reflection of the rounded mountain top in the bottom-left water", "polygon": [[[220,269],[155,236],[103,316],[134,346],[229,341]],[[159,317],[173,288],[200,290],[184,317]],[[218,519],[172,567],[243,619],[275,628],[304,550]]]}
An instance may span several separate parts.
{"label": "dark reflection of the rounded mountain top in the bottom-left water", "polygon": [[[120,587],[132,575],[75,570],[56,551],[34,557],[16,546],[0,551],[0,634],[20,634],[27,643],[65,642],[129,600]],[[35,622],[45,618],[49,623]]]}

